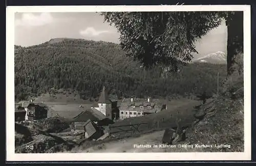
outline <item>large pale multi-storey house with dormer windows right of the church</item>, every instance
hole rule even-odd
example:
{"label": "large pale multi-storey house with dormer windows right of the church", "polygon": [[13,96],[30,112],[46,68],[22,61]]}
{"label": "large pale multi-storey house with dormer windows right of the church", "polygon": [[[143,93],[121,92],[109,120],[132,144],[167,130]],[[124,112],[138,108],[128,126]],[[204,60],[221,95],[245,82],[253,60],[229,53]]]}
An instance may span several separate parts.
{"label": "large pale multi-storey house with dormer windows right of the church", "polygon": [[158,113],[163,109],[167,109],[165,104],[162,104],[159,99],[138,99],[124,98],[119,108],[120,119],[140,117],[146,114]]}

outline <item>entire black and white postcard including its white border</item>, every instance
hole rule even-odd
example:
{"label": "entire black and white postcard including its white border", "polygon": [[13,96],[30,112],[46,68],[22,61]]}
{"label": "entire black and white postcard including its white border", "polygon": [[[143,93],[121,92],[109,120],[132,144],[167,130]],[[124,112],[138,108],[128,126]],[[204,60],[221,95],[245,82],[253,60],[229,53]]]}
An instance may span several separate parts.
{"label": "entire black and white postcard including its white border", "polygon": [[250,6],[7,7],[6,30],[7,161],[251,159]]}

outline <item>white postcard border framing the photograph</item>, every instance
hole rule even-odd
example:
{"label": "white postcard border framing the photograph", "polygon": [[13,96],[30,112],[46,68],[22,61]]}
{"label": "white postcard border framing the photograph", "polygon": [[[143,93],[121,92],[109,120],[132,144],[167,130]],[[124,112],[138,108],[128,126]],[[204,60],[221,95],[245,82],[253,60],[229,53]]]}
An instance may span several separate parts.
{"label": "white postcard border framing the photograph", "polygon": [[[244,152],[186,153],[14,153],[14,13],[108,11],[244,11]],[[6,149],[7,161],[108,161],[108,160],[250,160],[251,159],[251,63],[249,5],[158,6],[8,6],[6,10]],[[124,155],[125,154],[125,155]]]}

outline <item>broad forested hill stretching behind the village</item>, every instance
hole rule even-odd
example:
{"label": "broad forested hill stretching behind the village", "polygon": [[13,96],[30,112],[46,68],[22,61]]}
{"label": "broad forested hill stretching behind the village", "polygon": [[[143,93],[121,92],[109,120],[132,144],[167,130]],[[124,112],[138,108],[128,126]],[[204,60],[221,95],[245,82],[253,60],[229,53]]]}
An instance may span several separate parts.
{"label": "broad forested hill stretching behind the village", "polygon": [[15,99],[52,88],[76,90],[83,99],[96,98],[103,85],[118,97],[212,94],[217,91],[218,72],[220,81],[225,79],[226,65],[194,63],[163,78],[159,68],[145,71],[117,44],[59,38],[15,46]]}

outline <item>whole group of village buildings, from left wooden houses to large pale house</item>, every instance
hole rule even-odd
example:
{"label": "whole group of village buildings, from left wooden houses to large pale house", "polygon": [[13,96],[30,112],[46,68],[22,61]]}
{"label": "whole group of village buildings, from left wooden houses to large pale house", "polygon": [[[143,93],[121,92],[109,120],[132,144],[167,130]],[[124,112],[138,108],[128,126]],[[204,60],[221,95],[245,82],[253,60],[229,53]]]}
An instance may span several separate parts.
{"label": "whole group of village buildings, from left wooden houses to large pale house", "polygon": [[[150,97],[147,99],[124,98],[119,104],[117,99],[109,98],[108,92],[103,87],[98,102],[95,102],[90,109],[82,105],[73,109],[81,110],[81,113],[72,119],[70,125],[72,131],[76,132],[80,139],[88,137],[97,140],[107,136],[108,126],[118,119],[158,113],[167,107],[159,99]],[[15,106],[15,121],[47,119],[48,113],[52,110],[54,107],[47,107],[44,103],[34,103],[32,100],[22,101]]]}

